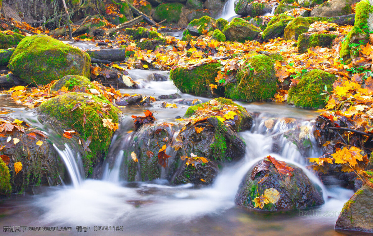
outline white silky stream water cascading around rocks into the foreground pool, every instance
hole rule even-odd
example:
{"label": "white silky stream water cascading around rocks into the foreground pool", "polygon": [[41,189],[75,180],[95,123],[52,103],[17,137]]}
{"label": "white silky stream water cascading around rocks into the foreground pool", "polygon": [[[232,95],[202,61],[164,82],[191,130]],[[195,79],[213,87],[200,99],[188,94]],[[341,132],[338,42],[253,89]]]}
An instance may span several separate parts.
{"label": "white silky stream water cascading around rocks into the foreground pool", "polygon": [[[154,81],[162,76],[167,78],[167,72],[129,70],[129,74],[139,80],[141,86],[137,90],[121,90],[122,93],[159,96],[177,92],[169,80]],[[163,108],[160,106],[162,101],[157,101],[152,107],[128,106],[121,109],[126,115],[141,115],[142,110],[149,109],[155,112],[158,122],[175,122],[175,117],[184,114],[191,100],[208,100],[189,94],[181,96],[167,101],[176,103],[178,108]],[[223,165],[211,186],[196,188],[193,184],[171,186],[163,179],[126,182],[120,166],[124,150],[128,148],[134,133],[127,132],[133,128],[133,121],[129,117],[123,119],[113,137],[102,167],[102,178],[83,180],[81,159],[74,152],[73,144],[62,143],[53,128],[40,122],[29,109],[22,108],[7,96],[0,96],[0,105],[14,110],[12,116],[22,118],[48,133],[65,162],[71,180],[70,184],[63,186],[40,187],[36,195],[25,193],[3,201],[0,204],[0,226],[72,227],[72,232],[29,232],[26,228],[25,232],[4,234],[342,235],[334,231],[334,224],[344,202],[353,192],[338,185],[323,186],[316,176],[304,168],[307,157],[321,155],[312,136],[308,138],[313,148],[303,154],[284,136],[295,125],[311,128],[309,120],[315,118],[317,113],[276,103],[240,104],[248,111],[258,113],[251,130],[238,133],[247,144],[245,158],[238,163]],[[280,119],[282,117],[295,118],[296,122],[286,123]],[[276,122],[273,129],[268,130],[264,121],[272,118],[276,118]],[[234,198],[242,178],[259,159],[267,155],[303,168],[307,176],[323,190],[325,204],[307,211],[270,214],[237,207]],[[108,228],[98,231],[102,228],[97,226]],[[77,232],[77,229],[83,232]]]}

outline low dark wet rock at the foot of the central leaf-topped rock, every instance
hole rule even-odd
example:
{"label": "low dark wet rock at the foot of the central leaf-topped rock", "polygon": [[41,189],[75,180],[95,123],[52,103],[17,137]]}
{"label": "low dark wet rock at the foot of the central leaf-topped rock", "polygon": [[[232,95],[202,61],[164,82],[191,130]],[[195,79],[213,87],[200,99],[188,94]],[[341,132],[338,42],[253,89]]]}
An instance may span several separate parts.
{"label": "low dark wet rock at the foot of the central leaf-topped rock", "polygon": [[192,183],[194,185],[211,184],[219,173],[219,168],[215,162],[209,161],[204,164],[197,164],[195,167],[186,165],[185,160],[179,161],[179,168],[171,178],[172,184]]}

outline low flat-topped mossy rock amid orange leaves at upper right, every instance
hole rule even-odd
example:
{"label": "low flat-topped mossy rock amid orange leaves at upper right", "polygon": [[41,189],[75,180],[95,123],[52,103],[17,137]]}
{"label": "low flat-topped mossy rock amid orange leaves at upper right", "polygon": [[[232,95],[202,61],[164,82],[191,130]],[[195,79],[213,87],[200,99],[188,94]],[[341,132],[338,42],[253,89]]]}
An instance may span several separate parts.
{"label": "low flat-topped mossy rock amid orange leaves at upper right", "polygon": [[335,34],[303,33],[298,37],[298,53],[305,53],[310,47],[328,47],[335,38]]}

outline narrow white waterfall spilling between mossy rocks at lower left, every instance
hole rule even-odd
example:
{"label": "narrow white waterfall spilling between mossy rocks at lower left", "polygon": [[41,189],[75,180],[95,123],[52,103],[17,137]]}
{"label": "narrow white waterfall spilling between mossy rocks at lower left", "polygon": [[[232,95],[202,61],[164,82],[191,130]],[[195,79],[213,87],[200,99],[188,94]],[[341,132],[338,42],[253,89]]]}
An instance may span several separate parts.
{"label": "narrow white waterfall spilling between mossy rocks at lower left", "polygon": [[[61,159],[65,163],[66,169],[68,170],[71,178],[71,183],[76,188],[82,183],[83,164],[82,158],[79,153],[75,153],[70,146],[65,143],[65,149],[61,150],[53,144],[54,149],[58,152]],[[76,159],[75,159],[76,156]]]}

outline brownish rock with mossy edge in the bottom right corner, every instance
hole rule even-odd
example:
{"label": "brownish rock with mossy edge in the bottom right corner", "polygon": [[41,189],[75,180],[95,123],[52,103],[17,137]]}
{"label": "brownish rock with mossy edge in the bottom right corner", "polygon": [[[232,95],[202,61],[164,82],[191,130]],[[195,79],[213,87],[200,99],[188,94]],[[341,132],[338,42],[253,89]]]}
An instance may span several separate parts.
{"label": "brownish rock with mossy edge in the bottom right corner", "polygon": [[335,224],[335,229],[373,233],[373,189],[367,185],[352,195]]}

